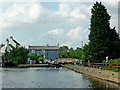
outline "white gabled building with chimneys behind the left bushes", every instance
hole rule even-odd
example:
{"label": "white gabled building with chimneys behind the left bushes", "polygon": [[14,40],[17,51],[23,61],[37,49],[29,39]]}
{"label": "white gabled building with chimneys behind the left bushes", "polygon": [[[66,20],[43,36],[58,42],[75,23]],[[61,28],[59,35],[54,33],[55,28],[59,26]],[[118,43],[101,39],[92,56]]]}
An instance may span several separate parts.
{"label": "white gabled building with chimneys behind the left bushes", "polygon": [[15,39],[13,39],[12,36],[9,39],[7,38],[5,44],[0,45],[0,60],[2,55],[5,53],[5,50],[9,52],[16,47],[20,47],[20,44]]}

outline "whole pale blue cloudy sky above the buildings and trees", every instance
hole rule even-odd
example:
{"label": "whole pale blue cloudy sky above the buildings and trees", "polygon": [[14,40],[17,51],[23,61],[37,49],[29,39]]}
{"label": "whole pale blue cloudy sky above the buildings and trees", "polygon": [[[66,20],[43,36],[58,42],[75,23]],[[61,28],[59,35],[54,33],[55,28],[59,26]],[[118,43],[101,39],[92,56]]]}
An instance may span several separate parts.
{"label": "whole pale blue cloudy sky above the buildings and trees", "polygon": [[[23,46],[88,43],[93,2],[0,2],[0,44],[13,36]],[[102,2],[118,32],[118,2]]]}

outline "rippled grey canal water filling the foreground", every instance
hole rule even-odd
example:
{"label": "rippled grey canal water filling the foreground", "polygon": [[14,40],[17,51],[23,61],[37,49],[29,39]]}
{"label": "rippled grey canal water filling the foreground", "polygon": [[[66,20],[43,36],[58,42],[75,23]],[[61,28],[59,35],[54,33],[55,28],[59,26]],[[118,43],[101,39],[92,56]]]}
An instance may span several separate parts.
{"label": "rippled grey canal water filling the foreground", "polygon": [[2,68],[2,88],[117,88],[64,67]]}

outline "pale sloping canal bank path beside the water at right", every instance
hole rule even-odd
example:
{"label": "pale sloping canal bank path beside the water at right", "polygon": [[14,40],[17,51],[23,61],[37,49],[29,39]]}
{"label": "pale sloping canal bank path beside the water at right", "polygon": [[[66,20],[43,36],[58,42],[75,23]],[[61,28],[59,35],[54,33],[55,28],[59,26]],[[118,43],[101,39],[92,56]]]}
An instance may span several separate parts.
{"label": "pale sloping canal bank path beside the water at right", "polygon": [[120,84],[120,73],[119,72],[112,72],[107,70],[101,70],[91,67],[82,67],[78,65],[64,65],[64,67],[76,71],[78,73],[87,74],[99,79],[103,79],[106,81],[114,82]]}

